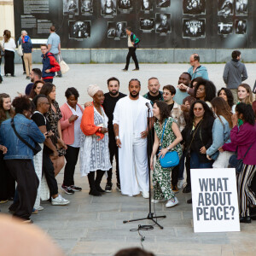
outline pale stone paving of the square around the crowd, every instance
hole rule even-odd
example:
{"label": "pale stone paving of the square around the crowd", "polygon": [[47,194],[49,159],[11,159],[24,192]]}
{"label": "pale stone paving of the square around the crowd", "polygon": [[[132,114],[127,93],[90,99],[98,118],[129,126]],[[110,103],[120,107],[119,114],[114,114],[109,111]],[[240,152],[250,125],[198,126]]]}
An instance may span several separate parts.
{"label": "pale stone paving of the square around the crowd", "polygon": [[[133,65],[133,64],[132,64]],[[206,65],[210,79],[218,89],[224,85],[222,73],[224,64]],[[3,66],[2,66],[3,67]],[[34,65],[34,67],[41,67]],[[121,91],[127,93],[127,84],[131,78],[142,81],[142,93],[147,91],[147,80],[151,76],[160,79],[161,85],[177,84],[180,73],[186,71],[187,64],[143,64],[139,72],[122,73],[122,65],[70,65],[71,70],[62,79],[55,79],[57,101],[65,102],[64,92],[69,86],[79,90],[79,102],[89,101],[86,88],[88,84],[99,84],[102,89],[106,87],[106,80],[116,76],[121,82]],[[253,71],[256,64],[247,64],[249,79],[247,83],[253,86],[255,76]],[[7,92],[12,98],[16,91],[23,91],[27,80],[22,76],[21,66],[16,65],[16,78],[4,79],[0,84],[0,92]],[[107,91],[107,90],[105,90]],[[114,177],[114,175],[113,175]],[[70,256],[79,255],[113,255],[120,248],[141,247],[140,236],[131,229],[138,224],[152,224],[151,221],[139,221],[123,224],[123,220],[131,218],[144,218],[148,215],[148,201],[141,195],[128,197],[120,195],[115,189],[113,181],[113,193],[93,197],[88,195],[89,185],[86,177],[80,177],[79,165],[76,168],[75,183],[83,188],[83,191],[74,195],[65,195],[61,191],[63,170],[57,176],[61,195],[71,201],[67,207],[53,207],[48,201],[42,202],[44,211],[33,215],[34,224],[38,225],[51,236],[55,242]],[[106,179],[102,180],[102,187]],[[155,253],[155,255],[254,255],[256,239],[256,221],[252,224],[241,224],[241,232],[233,233],[194,233],[192,206],[185,201],[190,194],[179,192],[177,198],[179,205],[166,209],[164,203],[155,204],[153,211],[157,215],[166,215],[164,219],[158,219],[164,226],[164,230],[154,226],[154,230],[141,231],[145,236],[143,247]],[[1,205],[2,213],[8,213],[10,202]]]}

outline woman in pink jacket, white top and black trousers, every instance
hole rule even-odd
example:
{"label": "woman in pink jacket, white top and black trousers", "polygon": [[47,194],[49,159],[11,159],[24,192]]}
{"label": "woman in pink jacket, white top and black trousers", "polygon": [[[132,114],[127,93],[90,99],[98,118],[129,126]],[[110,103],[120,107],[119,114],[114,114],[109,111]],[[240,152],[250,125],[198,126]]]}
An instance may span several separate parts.
{"label": "woman in pink jacket, white top and black trousers", "polygon": [[65,92],[67,102],[61,106],[61,133],[67,151],[65,154],[66,166],[61,189],[66,194],[74,194],[82,189],[74,185],[73,175],[79,158],[82,131],[80,128],[84,109],[78,104],[79,92],[75,88],[67,88]]}

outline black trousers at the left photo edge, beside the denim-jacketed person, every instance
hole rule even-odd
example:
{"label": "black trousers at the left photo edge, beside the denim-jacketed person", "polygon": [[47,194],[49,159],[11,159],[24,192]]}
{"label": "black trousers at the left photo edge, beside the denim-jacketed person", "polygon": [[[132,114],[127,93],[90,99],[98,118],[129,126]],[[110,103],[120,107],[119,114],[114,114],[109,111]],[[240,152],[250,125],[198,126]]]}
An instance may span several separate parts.
{"label": "black trousers at the left photo edge, beside the denim-jacketed person", "polygon": [[15,178],[9,172],[3,152],[0,151],[0,201],[8,200],[15,196]]}

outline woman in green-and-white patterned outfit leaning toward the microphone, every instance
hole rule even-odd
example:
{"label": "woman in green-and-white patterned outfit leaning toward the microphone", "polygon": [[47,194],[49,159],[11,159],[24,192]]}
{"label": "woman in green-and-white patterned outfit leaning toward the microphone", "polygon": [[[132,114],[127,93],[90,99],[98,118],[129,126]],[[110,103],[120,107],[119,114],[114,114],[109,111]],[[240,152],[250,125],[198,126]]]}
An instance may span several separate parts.
{"label": "woman in green-and-white patterned outfit leaning toward the microphone", "polygon": [[[160,165],[160,157],[165,157],[166,153],[169,151],[177,151],[180,158],[183,153],[180,142],[183,138],[175,119],[170,117],[170,111],[166,102],[154,102],[153,114],[157,119],[156,123],[154,123],[154,146],[150,158],[150,168],[151,170],[154,168],[153,202],[167,201],[166,207],[174,207],[178,204],[178,200],[171,189],[170,173],[172,172],[172,167],[163,168]],[[160,144],[159,158],[156,160],[155,166],[153,166],[154,155],[157,153]]]}

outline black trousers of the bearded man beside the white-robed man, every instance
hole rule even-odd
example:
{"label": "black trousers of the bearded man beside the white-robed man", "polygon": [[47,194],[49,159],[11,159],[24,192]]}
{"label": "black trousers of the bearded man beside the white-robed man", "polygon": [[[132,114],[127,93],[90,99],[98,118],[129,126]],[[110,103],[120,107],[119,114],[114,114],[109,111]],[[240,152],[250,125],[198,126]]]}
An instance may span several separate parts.
{"label": "black trousers of the bearded man beside the white-robed man", "polygon": [[[119,148],[116,145],[114,135],[108,134],[108,136],[109,136],[108,148],[109,148],[109,154],[110,154],[110,163],[111,163],[111,166],[112,166],[113,165],[113,156],[114,156],[115,161],[116,161],[116,180],[117,180],[118,183],[120,183],[120,177],[119,177]],[[107,183],[111,183],[111,181],[112,181],[112,172],[113,172],[113,168],[109,169]]]}

